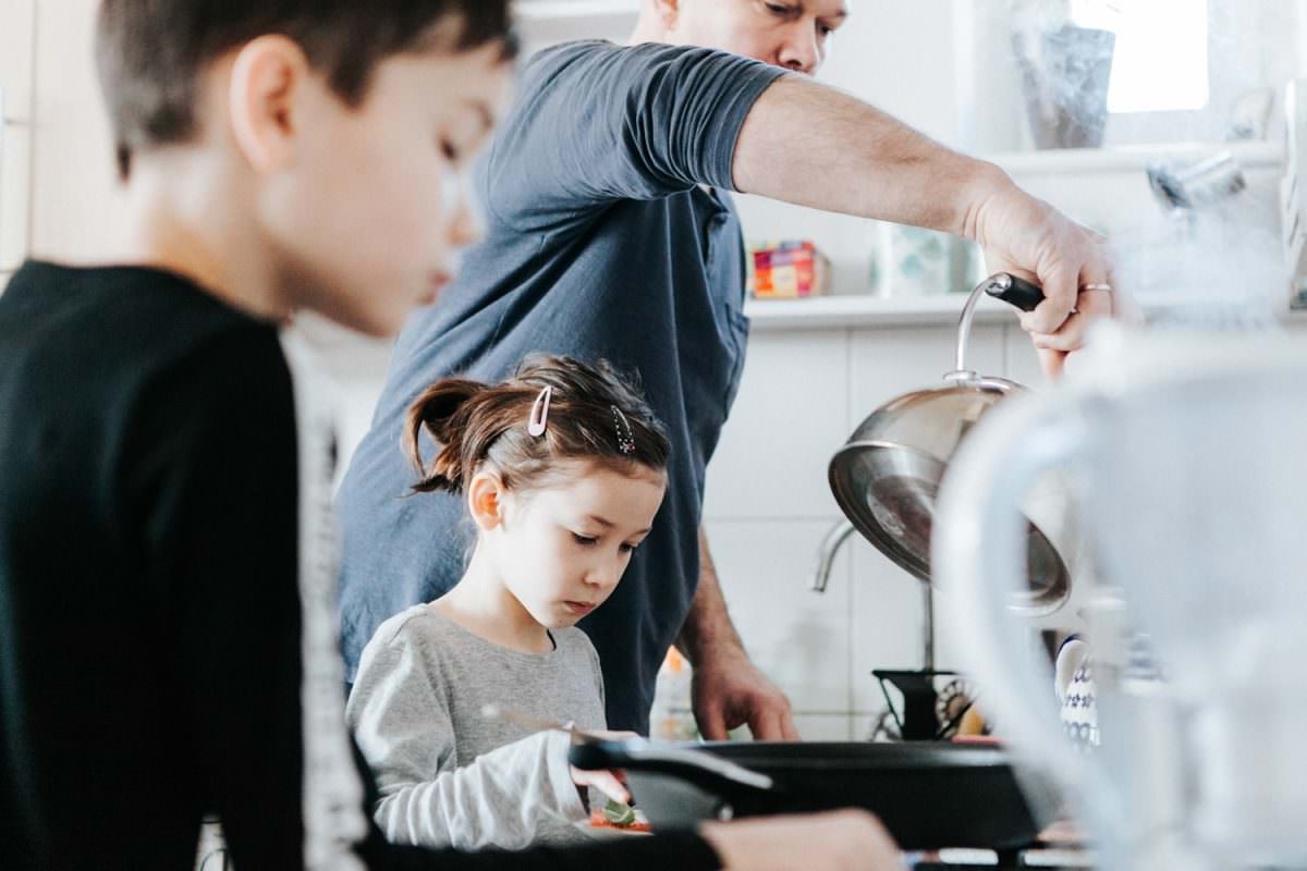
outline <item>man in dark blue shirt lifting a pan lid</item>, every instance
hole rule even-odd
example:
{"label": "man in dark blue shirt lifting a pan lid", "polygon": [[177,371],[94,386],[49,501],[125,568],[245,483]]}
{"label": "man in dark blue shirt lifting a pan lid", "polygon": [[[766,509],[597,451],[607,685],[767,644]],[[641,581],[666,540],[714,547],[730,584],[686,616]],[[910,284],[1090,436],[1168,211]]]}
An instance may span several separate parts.
{"label": "man in dark blue shirt lifting a pan lid", "polygon": [[604,663],[609,725],[647,727],[676,640],[695,666],[706,738],[745,722],[758,738],[796,736],[787,700],[731,626],[699,531],[704,469],[748,337],[740,227],[720,191],[976,239],[991,268],[1043,283],[1048,302],[1022,324],[1050,371],[1078,346],[1085,317],[1111,307],[1100,291],[1078,293],[1108,281],[1084,230],[996,167],[806,78],[846,17],[843,0],[646,0],[630,46],[571,43],[527,67],[477,176],[486,240],[401,336],[342,484],[350,666],[382,620],[463,569],[447,534],[457,500],[404,498],[413,473],[397,444],[410,398],[451,372],[501,377],[533,350],[605,356],[640,375],[673,441],[654,531],[582,624]]}

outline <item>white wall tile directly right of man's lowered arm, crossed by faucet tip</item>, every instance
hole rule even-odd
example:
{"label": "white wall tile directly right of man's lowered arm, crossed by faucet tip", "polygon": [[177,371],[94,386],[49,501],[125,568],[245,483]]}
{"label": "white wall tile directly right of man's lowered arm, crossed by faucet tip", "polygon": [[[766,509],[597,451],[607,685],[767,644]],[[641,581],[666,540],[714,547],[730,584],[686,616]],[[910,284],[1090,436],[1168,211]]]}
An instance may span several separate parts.
{"label": "white wall tile directly right of man's lowered arm, crossed by faucet tip", "polygon": [[796,712],[850,708],[850,555],[826,593],[809,589],[831,521],[712,521],[704,525],[723,594],[754,663]]}

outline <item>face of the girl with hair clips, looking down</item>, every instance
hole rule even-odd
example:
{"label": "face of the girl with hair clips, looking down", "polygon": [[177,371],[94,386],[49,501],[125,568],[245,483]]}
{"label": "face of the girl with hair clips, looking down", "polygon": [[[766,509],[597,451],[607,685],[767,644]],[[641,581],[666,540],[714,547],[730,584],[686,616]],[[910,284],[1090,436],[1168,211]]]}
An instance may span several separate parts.
{"label": "face of the girl with hair clips, looking down", "polygon": [[631,477],[574,461],[558,471],[559,484],[505,492],[502,521],[481,537],[503,584],[548,628],[575,624],[613,593],[667,490],[652,469]]}

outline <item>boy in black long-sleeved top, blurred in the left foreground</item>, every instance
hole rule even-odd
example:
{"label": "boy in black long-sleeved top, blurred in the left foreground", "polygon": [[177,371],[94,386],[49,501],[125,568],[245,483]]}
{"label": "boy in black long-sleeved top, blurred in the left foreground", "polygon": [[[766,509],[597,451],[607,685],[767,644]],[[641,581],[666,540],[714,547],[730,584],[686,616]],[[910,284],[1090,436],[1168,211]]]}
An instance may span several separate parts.
{"label": "boy in black long-sleeved top, blurred in the left foreground", "polygon": [[821,827],[884,845],[826,817],[710,831],[716,850],[435,855],[367,824],[331,434],[278,326],[308,308],[388,334],[448,279],[506,7],[105,0],[132,244],[29,262],[0,298],[0,867],[184,868],[207,811],[240,871],[742,866],[741,838]]}

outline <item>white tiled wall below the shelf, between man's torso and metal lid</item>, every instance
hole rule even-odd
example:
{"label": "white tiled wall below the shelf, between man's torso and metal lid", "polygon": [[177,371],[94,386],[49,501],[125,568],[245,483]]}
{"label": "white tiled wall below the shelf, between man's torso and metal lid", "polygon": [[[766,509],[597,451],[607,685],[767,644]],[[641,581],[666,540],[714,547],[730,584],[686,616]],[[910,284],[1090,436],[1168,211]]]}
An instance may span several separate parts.
{"label": "white tiled wall below the shelf, between man's torso and metal lid", "polygon": [[[808,586],[817,546],[842,517],[826,479],[830,454],[882,402],[940,384],[955,343],[951,325],[752,340],[708,469],[704,524],[736,627],[796,716],[813,725],[805,738],[865,736],[869,725],[857,717],[884,709],[872,669],[923,665],[923,585],[861,537],[843,546],[825,594]],[[1022,376],[1038,375],[1027,347],[1016,325],[980,324],[968,363],[1004,375],[1010,358]]]}

